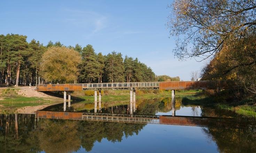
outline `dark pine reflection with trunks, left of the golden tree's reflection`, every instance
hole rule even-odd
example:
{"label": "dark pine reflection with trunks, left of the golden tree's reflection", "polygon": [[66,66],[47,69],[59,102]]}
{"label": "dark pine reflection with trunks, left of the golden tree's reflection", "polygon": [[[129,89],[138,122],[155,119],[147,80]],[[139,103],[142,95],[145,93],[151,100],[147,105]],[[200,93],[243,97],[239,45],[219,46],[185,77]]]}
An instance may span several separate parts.
{"label": "dark pine reflection with trunks, left of the golden tree's reflection", "polygon": [[31,131],[34,129],[34,115],[17,114],[16,121],[15,124],[15,114],[0,114],[0,152],[38,152],[38,144],[31,137]]}

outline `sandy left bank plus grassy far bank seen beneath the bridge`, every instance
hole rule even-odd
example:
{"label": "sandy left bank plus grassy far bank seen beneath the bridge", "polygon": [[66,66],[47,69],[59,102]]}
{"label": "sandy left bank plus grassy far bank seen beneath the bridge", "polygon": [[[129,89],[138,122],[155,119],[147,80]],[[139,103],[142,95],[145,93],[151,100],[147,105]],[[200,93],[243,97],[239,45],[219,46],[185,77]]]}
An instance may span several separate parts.
{"label": "sandy left bank plus grassy far bank seen beneath the bridge", "polygon": [[[176,92],[176,97],[193,95],[199,91]],[[94,101],[94,91],[73,92],[72,96],[85,99],[83,103],[92,103]],[[150,90],[136,91],[136,99],[155,99],[170,97],[171,91]],[[50,96],[34,90],[34,87],[3,87],[0,88],[0,113],[26,112],[31,113],[37,109],[42,109],[48,105],[62,103],[63,99]],[[102,101],[110,103],[127,103],[130,100],[129,91],[103,91]]]}

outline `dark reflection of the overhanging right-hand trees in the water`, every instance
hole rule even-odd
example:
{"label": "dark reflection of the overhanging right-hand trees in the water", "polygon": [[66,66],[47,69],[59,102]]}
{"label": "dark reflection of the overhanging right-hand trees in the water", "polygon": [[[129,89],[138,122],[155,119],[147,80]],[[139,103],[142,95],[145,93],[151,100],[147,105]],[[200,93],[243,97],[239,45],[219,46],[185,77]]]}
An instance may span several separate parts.
{"label": "dark reflection of the overhanging right-hand trees in the water", "polygon": [[[226,112],[222,109],[201,107],[201,110],[203,116],[232,116],[241,119],[241,116],[234,114],[234,112]],[[243,120],[250,120],[250,122],[255,122],[255,118],[243,118]],[[207,127],[202,129],[205,135],[207,135],[210,140],[217,144],[219,152],[253,153],[256,152],[256,127],[248,127],[248,129],[225,129],[214,127]]]}

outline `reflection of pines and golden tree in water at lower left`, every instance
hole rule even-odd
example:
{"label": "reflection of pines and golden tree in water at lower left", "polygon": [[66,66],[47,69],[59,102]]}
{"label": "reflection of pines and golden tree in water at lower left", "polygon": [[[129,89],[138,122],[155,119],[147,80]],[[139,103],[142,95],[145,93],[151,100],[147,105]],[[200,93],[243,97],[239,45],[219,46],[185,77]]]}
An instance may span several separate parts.
{"label": "reflection of pines and golden tree in water at lower left", "polygon": [[15,115],[1,115],[0,121],[1,153],[65,153],[77,151],[80,147],[91,151],[96,141],[101,142],[106,138],[111,142],[121,142],[123,137],[137,135],[145,126],[120,122],[39,119],[35,129],[33,115],[19,114],[16,132]]}

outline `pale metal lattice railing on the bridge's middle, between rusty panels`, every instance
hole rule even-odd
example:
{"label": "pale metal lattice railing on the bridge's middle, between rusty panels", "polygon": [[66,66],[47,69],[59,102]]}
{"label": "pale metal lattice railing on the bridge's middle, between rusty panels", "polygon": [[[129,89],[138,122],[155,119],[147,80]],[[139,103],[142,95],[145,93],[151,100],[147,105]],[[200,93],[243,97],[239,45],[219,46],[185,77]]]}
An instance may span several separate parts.
{"label": "pale metal lattice railing on the bridge's middle, between rusty panels", "polygon": [[112,89],[158,89],[159,82],[132,82],[132,83],[85,83],[83,90],[112,90]]}

